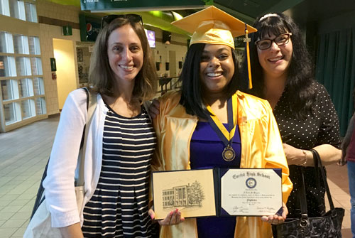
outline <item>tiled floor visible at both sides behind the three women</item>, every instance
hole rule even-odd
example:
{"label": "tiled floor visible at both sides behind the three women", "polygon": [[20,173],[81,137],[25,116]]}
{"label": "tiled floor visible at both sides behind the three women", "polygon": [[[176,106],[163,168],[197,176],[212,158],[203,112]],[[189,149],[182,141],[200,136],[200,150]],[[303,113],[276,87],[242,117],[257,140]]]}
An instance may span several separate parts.
{"label": "tiled floor visible at both sides behind the three women", "polygon": [[[59,117],[0,134],[0,237],[22,237],[50,155]],[[351,238],[346,166],[327,167],[334,205],[346,210],[343,237]]]}

